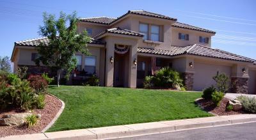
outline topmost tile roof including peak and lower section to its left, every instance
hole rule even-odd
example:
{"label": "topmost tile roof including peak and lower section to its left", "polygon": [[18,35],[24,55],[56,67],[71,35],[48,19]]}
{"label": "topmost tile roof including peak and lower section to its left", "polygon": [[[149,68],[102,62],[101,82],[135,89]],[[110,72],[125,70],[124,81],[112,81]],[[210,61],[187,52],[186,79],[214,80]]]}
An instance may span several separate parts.
{"label": "topmost tile roof including peak and lower section to its left", "polygon": [[175,20],[175,21],[177,20],[172,17],[167,17],[165,15],[159,15],[157,13],[147,12],[145,10],[129,10],[127,13],[118,17],[117,19],[110,18],[110,17],[90,17],[90,18],[81,18],[79,20],[81,20],[83,22],[93,22],[93,23],[109,25],[113,22],[116,22],[118,19],[125,17],[128,14],[144,15],[144,16],[148,16],[148,17],[156,17],[156,18],[160,18],[160,19],[168,19],[168,20]]}

